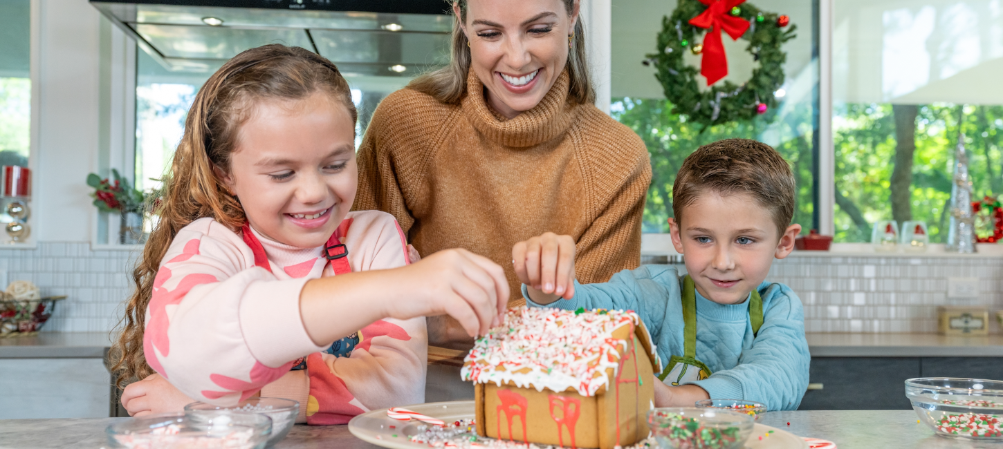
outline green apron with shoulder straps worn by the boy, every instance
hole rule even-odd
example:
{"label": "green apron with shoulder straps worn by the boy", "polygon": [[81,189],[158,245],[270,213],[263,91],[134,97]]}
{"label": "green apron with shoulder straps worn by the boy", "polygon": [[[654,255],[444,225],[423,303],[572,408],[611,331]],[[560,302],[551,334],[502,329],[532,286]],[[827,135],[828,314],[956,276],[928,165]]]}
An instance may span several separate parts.
{"label": "green apron with shoulder straps worn by the boy", "polygon": [[[755,290],[749,299],[749,321],[755,338],[762,326],[762,298]],[[670,379],[672,386],[703,380],[713,374],[703,362],[696,360],[696,289],[689,275],[683,278],[683,357],[673,355],[669,366],[658,375],[662,382]]]}

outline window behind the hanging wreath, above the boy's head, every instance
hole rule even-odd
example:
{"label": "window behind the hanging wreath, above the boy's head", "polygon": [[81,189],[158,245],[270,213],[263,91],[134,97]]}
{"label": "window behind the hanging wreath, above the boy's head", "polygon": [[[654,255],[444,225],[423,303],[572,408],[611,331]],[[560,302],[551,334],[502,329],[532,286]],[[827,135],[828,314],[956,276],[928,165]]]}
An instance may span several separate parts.
{"label": "window behind the hanging wreath, above the boy's head", "polygon": [[[818,138],[817,1],[757,0],[764,10],[785,14],[797,25],[797,37],[786,42],[785,82],[775,95],[780,105],[751,123],[729,123],[701,130],[685,115],[671,113],[655,70],[641,61],[656,49],[662,16],[671,15],[675,1],[638,0],[613,8],[613,84],[611,111],[614,118],[630,126],[644,139],[651,153],[653,177],[644,211],[645,233],[668,233],[672,216],[672,183],[676,172],[698,146],[728,137],[763,141],[791,164],[797,181],[797,207],[793,221],[805,230],[818,228],[814,209],[815,154]],[[736,84],[751,76],[757,65],[746,51],[747,43],[725,37],[728,76]],[[699,64],[693,57],[691,63]],[[698,77],[703,80],[703,77]]]}

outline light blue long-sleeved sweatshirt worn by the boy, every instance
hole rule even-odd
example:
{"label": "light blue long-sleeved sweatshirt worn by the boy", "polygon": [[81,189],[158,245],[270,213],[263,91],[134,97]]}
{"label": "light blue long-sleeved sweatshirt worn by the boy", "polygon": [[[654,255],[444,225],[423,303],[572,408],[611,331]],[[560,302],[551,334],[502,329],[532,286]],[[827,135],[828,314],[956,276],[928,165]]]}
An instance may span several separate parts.
{"label": "light blue long-sleeved sweatshirt worn by the boy", "polygon": [[[683,355],[682,276],[675,267],[648,265],[624,270],[605,284],[575,283],[575,297],[550,306],[564,310],[633,310],[651,333],[658,356],[667,364]],[[753,338],[746,300],[717,304],[696,293],[696,359],[713,374],[698,385],[711,399],[744,399],[766,404],[767,410],[795,410],[808,386],[804,311],[794,293],[782,284],[763,283],[763,322]]]}

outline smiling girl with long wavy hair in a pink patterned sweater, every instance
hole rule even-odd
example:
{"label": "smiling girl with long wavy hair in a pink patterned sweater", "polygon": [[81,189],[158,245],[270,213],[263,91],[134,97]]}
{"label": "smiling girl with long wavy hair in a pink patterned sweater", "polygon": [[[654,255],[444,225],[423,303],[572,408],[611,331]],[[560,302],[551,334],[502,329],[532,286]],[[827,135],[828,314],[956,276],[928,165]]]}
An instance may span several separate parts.
{"label": "smiling girl with long wavy hair in a pink patterned sweater", "polygon": [[[462,250],[408,265],[393,217],[349,212],[356,111],[327,59],[267,45],[199,91],[116,344],[132,415],[300,401],[310,424],[424,402],[424,316],[471,336],[509,299]],[[153,374],[153,372],[157,374]]]}

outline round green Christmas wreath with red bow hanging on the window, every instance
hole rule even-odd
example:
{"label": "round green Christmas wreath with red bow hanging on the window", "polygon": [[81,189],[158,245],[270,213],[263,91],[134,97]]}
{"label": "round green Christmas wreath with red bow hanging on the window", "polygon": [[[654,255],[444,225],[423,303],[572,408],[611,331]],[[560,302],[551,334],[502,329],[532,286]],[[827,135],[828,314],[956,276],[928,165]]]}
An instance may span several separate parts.
{"label": "round green Christmas wreath with red bow hanging on the window", "polygon": [[[673,113],[689,116],[704,129],[713,124],[751,120],[777,104],[774,92],[783,84],[783,63],[787,60],[780,46],[794,38],[796,27],[787,26],[790,19],[785,15],[763,12],[743,2],[679,0],[672,15],[662,18],[658,52],[645,60],[658,70],[655,77],[672,102]],[[714,84],[728,73],[722,32],[734,40],[747,40],[746,50],[759,67],[741,85],[725,81],[700,92],[697,69],[683,61],[683,52],[702,55],[699,73],[706,77],[708,86]],[[704,34],[703,42],[697,43],[700,34]]]}

